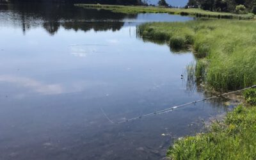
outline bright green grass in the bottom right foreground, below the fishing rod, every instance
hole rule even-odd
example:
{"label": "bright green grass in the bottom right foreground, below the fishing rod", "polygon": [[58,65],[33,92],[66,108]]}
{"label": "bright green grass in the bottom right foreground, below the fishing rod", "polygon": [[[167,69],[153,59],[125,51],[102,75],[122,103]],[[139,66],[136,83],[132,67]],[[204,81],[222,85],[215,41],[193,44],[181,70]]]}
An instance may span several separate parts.
{"label": "bright green grass in the bottom right foreground, below the fishing rod", "polygon": [[[249,92],[246,95],[256,99],[256,90]],[[256,159],[256,107],[238,106],[224,121],[214,122],[207,133],[176,141],[167,155],[175,160]]]}

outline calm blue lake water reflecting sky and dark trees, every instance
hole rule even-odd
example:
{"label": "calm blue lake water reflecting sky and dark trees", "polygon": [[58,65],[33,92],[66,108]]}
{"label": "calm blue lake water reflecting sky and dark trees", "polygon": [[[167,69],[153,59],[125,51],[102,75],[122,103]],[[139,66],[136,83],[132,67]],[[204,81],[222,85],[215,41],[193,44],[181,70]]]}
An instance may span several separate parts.
{"label": "calm blue lake water reflecting sky and dark trees", "polygon": [[[124,15],[60,4],[0,5],[0,159],[161,159],[201,119],[225,112],[180,78],[191,52],[136,35],[168,14]],[[104,111],[104,113],[102,113]]]}

